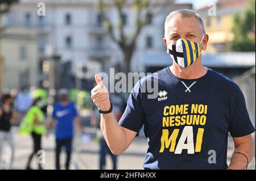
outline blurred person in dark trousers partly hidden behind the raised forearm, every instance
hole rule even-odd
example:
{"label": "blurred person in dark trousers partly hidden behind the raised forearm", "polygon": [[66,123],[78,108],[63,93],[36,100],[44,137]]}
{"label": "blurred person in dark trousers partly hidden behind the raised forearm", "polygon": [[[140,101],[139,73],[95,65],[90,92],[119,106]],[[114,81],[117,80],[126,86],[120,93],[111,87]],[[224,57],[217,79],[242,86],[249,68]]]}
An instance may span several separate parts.
{"label": "blurred person in dark trousers partly hidden behind the raised forearm", "polygon": [[99,150],[99,154],[100,154],[100,170],[106,170],[106,154],[108,153],[112,159],[112,169],[113,170],[117,170],[117,155],[114,155],[108,145],[106,144],[105,138],[101,132],[101,127],[100,127],[100,123],[101,123],[101,115],[100,113],[98,113],[98,108],[94,107],[93,108],[93,115],[91,117],[91,124],[96,128],[96,140],[99,142],[100,144],[100,150]]}

